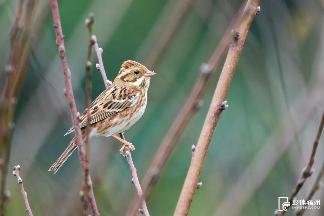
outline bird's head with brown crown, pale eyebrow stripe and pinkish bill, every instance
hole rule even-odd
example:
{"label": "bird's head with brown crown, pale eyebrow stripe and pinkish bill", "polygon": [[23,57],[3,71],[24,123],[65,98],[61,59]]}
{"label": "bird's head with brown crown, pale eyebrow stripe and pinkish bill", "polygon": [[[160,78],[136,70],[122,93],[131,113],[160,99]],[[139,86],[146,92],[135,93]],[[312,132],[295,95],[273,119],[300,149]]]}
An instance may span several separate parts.
{"label": "bird's head with brown crown, pale eyebrow stripe and pinkish bill", "polygon": [[135,61],[125,61],[116,78],[131,85],[148,88],[150,77],[156,73],[149,71],[144,65]]}

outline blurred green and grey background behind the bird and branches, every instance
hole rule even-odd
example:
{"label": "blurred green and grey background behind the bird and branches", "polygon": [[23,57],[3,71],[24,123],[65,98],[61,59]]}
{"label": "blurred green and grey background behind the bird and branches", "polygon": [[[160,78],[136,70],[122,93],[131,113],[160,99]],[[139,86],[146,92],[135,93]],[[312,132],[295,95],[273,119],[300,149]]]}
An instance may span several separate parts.
{"label": "blurred green and grey background behind the bird and branches", "polygon": [[[26,0],[28,4],[29,0]],[[109,80],[125,60],[147,63],[160,35],[175,20],[169,18],[187,1],[59,1],[67,60],[77,108],[85,108],[87,28],[92,12],[94,34],[103,49]],[[159,62],[149,70],[151,80],[144,116],[125,137],[136,146],[132,153],[139,179],[145,175],[161,140],[190,95],[207,62],[242,1],[191,1],[188,12]],[[9,30],[17,1],[0,0],[0,85],[9,58]],[[278,197],[288,197],[306,165],[324,108],[324,2],[272,0],[260,2],[245,42],[204,162],[189,215],[272,215]],[[81,215],[82,172],[75,152],[55,175],[48,168],[73,135],[69,105],[63,94],[62,67],[55,45],[49,0],[37,0],[31,32],[33,44],[15,113],[7,189],[11,199],[6,215],[24,215],[25,206],[12,168],[20,175],[34,215]],[[95,68],[95,98],[104,83]],[[221,68],[219,69],[219,71]],[[147,201],[150,214],[173,215],[196,144],[213,97],[219,73],[203,97],[203,107],[191,119]],[[323,163],[323,139],[311,176],[297,199],[306,199]],[[91,140],[91,177],[101,215],[125,215],[136,194],[127,161],[113,138]],[[324,203],[320,190],[314,199]],[[323,203],[321,203],[323,205]],[[289,210],[286,215],[293,215]],[[307,210],[305,215],[323,215]]]}

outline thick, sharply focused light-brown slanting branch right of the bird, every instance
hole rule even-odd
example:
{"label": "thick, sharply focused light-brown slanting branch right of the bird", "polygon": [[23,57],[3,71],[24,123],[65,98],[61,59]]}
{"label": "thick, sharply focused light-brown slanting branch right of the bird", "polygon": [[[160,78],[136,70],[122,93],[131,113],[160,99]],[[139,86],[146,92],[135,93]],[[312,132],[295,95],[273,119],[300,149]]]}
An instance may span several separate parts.
{"label": "thick, sharply focused light-brown slanting branch right of the bird", "polygon": [[189,167],[174,215],[187,215],[189,212],[194,193],[197,189],[199,175],[203,167],[208,146],[222,110],[225,108],[224,106],[226,103],[223,101],[226,98],[227,91],[241,54],[249,27],[257,13],[258,4],[259,0],[249,0],[247,2],[241,24],[238,27],[238,30],[233,34],[233,41],[229,48],[222,73],[219,77],[214,97],[198,139],[195,153],[193,154],[191,165]]}

